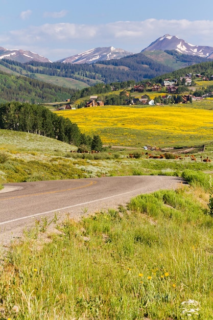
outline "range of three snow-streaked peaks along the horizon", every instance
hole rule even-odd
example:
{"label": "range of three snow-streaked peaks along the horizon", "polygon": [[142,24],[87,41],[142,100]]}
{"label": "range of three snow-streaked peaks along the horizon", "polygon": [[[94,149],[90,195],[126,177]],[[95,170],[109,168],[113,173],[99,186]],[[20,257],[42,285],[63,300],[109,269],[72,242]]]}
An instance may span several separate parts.
{"label": "range of three snow-streaked peaks along the horizon", "polygon": [[[141,52],[149,55],[149,52],[153,51],[171,51],[175,50],[179,54],[185,54],[188,56],[201,57],[205,59],[213,59],[213,47],[204,45],[194,45],[188,43],[187,41],[178,38],[177,36],[171,36],[170,34],[165,34],[159,37],[154,42],[152,42],[147,48],[141,50]],[[114,47],[103,47],[95,48],[84,51],[77,55],[69,56],[60,59],[56,62],[62,63],[73,63],[73,64],[93,64],[100,61],[108,61],[112,59],[121,59],[126,56],[132,56],[133,53],[125,51],[124,49],[115,49]],[[10,50],[0,47],[0,59],[10,59],[18,61],[21,63],[29,61],[39,61],[39,62],[52,62],[50,59],[45,58],[37,53],[33,53],[27,50]]]}

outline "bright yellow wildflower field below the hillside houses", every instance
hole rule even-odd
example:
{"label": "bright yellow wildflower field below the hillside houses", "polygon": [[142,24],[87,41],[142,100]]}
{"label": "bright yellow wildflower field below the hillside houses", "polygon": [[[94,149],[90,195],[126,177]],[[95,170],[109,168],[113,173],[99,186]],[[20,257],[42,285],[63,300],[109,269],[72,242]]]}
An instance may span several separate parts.
{"label": "bright yellow wildflower field below the hillside houses", "polygon": [[[213,102],[211,102],[213,105]],[[174,106],[102,106],[56,111],[104,144],[180,146],[213,140],[213,111]]]}

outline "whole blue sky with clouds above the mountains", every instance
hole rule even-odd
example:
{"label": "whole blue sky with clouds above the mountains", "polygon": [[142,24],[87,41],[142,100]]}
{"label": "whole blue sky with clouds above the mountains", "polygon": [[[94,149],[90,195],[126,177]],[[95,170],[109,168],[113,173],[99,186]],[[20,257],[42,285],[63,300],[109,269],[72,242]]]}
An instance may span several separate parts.
{"label": "whole blue sky with clouds above the mountains", "polygon": [[139,53],[164,34],[213,47],[212,0],[0,0],[0,47],[57,61],[98,47]]}

